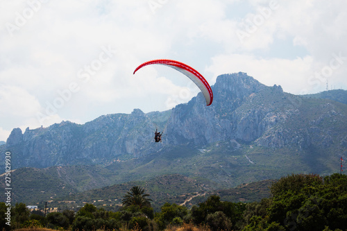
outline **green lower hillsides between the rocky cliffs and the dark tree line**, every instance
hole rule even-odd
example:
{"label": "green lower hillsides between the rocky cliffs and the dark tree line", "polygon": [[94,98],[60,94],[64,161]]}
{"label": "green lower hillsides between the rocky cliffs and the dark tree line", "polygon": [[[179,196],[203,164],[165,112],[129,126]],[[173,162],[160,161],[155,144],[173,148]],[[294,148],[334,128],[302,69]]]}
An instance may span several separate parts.
{"label": "green lower hillsides between the rocky cliffs and the dark tree line", "polygon": [[[316,151],[303,155],[294,148],[262,148],[234,140],[204,149],[172,147],[162,153],[115,162],[106,168],[97,165],[22,168],[12,173],[13,200],[26,204],[47,200],[76,200],[78,203],[110,200],[110,204],[115,204],[128,188],[142,185],[151,189],[158,201],[183,203],[194,193],[231,189],[291,173],[326,175],[338,172],[339,157],[335,153],[323,154]],[[335,159],[332,158],[334,155]],[[180,178],[167,178],[176,174]],[[169,182],[168,189],[163,188],[166,183],[159,187],[158,182]],[[120,188],[115,189],[112,185]],[[98,193],[88,191],[92,189]],[[76,196],[67,198],[69,194]],[[105,199],[105,194],[115,196]]]}

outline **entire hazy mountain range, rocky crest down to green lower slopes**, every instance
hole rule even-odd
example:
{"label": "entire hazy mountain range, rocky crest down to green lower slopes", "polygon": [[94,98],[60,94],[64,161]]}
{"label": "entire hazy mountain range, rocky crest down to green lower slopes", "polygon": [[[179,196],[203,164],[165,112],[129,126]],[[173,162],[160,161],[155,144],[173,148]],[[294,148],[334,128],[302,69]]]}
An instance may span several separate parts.
{"label": "entire hazy mountain range, rocky crest down to green lower slopes", "polygon": [[[135,109],[83,125],[13,129],[0,150],[11,152],[11,169],[17,169],[11,173],[14,200],[16,194],[40,201],[43,194],[69,196],[173,174],[213,191],[291,173],[339,171],[339,158],[347,155],[347,105],[333,101],[334,92],[331,99],[296,96],[242,72],[219,76],[212,89],[208,107],[198,94],[165,112]],[[155,126],[167,128],[159,144]]]}

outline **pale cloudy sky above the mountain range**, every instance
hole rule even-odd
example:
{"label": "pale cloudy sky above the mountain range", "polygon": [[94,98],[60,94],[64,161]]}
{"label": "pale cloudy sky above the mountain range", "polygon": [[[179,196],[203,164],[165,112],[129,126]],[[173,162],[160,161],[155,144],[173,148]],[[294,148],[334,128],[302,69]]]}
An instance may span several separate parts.
{"label": "pale cloudy sky above the mountain range", "polygon": [[163,111],[246,72],[291,94],[347,89],[347,1],[2,0],[0,141],[13,128]]}

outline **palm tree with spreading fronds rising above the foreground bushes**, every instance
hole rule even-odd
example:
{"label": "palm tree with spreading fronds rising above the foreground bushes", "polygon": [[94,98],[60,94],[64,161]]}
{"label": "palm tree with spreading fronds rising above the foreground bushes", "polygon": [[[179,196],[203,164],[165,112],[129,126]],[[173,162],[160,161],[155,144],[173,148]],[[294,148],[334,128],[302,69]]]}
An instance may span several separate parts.
{"label": "palm tree with spreading fronds rising above the foreground bushes", "polygon": [[144,193],[144,189],[139,186],[134,186],[126,193],[121,200],[124,207],[130,205],[139,205],[139,207],[151,207],[151,199],[148,198],[149,194]]}

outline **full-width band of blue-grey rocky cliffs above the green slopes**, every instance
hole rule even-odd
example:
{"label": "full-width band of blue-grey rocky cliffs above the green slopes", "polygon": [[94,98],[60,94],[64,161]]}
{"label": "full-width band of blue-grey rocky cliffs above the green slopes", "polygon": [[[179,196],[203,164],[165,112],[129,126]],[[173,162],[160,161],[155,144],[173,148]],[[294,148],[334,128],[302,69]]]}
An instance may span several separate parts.
{"label": "full-width band of blue-grey rocky cliffs above the green slopes", "polygon": [[[83,125],[63,121],[49,128],[12,130],[6,150],[13,167],[108,164],[119,157],[138,157],[166,146],[206,146],[237,141],[269,148],[328,147],[346,152],[347,105],[287,94],[244,73],[224,74],[212,86],[214,102],[201,94],[171,111],[108,114]],[[165,129],[163,143],[153,130]],[[0,147],[0,148],[1,148]]]}

